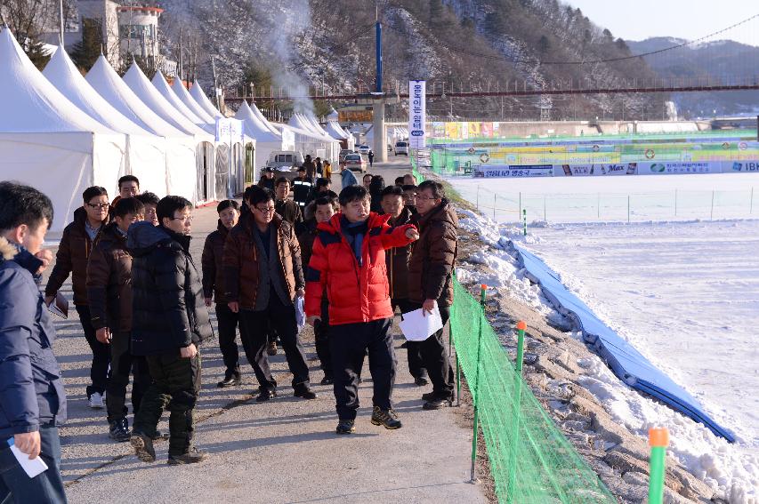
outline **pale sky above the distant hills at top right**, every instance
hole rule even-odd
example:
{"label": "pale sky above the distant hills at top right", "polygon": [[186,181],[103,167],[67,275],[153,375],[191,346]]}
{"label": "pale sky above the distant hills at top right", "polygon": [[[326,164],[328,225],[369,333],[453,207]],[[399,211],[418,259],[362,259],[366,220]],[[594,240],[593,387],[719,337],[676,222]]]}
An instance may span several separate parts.
{"label": "pale sky above the distant hills at top right", "polygon": [[[693,40],[759,14],[757,0],[563,0],[626,40],[675,36]],[[715,36],[759,46],[759,18]]]}

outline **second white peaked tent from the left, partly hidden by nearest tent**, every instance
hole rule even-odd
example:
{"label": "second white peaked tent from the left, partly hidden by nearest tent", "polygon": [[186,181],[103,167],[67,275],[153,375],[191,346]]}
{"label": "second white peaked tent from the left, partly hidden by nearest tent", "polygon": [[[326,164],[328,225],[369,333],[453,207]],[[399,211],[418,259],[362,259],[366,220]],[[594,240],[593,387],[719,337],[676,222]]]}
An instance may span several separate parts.
{"label": "second white peaked tent from the left, partly hidden by nearest tent", "polygon": [[[65,50],[59,48],[53,55],[43,75],[58,91],[88,116],[115,132],[126,134],[126,172],[142,180],[143,190],[154,191],[158,196],[166,193],[166,139],[142,129],[110,106],[79,73]],[[134,172],[133,172],[134,171]],[[151,183],[154,182],[155,183]],[[154,187],[155,186],[155,187]],[[109,192],[117,188],[108,188]]]}

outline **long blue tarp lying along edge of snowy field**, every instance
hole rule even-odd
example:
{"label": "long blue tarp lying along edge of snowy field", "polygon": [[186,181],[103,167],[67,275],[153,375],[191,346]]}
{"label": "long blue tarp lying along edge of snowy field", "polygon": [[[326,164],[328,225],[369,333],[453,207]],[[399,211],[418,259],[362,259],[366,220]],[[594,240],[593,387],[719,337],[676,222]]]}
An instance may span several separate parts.
{"label": "long blue tarp lying along edge of snowy field", "polygon": [[543,260],[527,252],[518,244],[513,242],[512,244],[519,252],[522,266],[527,270],[530,280],[540,284],[545,297],[561,314],[569,316],[574,321],[583,333],[585,341],[602,356],[611,371],[621,380],[632,388],[658,398],[691,419],[703,423],[715,435],[722,436],[731,443],[735,442],[735,437],[720,427],[715,420],[709,418],[693,396],[674,383],[664,372],[659,371],[626,340],[620,338],[617,332],[603,324],[582,300],[569,292]]}

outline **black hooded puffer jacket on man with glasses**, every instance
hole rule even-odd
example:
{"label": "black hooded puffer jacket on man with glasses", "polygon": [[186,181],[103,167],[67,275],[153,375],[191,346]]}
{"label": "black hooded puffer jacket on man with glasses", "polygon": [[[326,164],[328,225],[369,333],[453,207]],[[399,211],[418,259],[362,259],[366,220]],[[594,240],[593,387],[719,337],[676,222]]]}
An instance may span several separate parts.
{"label": "black hooded puffer jacket on man with glasses", "polygon": [[127,247],[133,256],[133,354],[171,353],[211,338],[203,285],[190,256],[190,236],[135,222]]}

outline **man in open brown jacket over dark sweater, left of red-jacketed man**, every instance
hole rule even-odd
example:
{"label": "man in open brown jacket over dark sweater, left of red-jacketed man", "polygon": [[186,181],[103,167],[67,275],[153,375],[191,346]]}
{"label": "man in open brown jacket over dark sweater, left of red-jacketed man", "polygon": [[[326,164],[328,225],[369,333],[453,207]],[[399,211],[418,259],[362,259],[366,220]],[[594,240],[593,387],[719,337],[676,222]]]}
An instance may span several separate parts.
{"label": "man in open brown jacket over dark sweater, left of red-jacketed man", "polygon": [[270,190],[247,191],[246,210],[224,244],[223,265],[224,296],[239,313],[243,348],[259,384],[256,401],[277,395],[266,355],[270,327],[282,341],[295,396],[315,399],[295,322],[295,298],[303,297],[305,287],[301,247],[293,227],[274,212]]}

